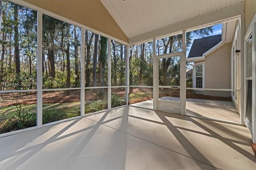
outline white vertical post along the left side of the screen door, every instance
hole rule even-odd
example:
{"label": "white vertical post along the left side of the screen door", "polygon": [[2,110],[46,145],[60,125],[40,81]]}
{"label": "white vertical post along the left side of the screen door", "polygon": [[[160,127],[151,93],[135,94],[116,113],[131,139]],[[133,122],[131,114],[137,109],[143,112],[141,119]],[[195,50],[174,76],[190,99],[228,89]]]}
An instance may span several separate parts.
{"label": "white vertical post along the left side of the screen door", "polygon": [[156,58],[156,38],[153,38],[153,109],[158,110],[158,59]]}

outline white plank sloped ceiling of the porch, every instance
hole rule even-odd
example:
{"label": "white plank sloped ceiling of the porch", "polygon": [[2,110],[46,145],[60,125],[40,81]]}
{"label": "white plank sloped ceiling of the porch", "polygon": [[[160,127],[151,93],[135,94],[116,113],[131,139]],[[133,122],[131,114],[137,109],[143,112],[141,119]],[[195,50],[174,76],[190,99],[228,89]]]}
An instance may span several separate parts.
{"label": "white plank sloped ceiling of the porch", "polygon": [[[101,0],[128,38],[245,0]],[[234,23],[233,23],[234,24]]]}

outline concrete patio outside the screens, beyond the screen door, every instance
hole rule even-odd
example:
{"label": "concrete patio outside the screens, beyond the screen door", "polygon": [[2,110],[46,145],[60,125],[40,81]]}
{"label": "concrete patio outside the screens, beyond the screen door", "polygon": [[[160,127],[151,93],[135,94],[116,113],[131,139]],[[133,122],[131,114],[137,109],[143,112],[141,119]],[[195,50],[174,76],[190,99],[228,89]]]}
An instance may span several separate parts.
{"label": "concrete patio outside the screens, beyond the screen door", "polygon": [[[165,96],[161,100],[180,101],[180,98]],[[153,100],[131,106],[153,109]],[[186,114],[240,123],[240,115],[232,102],[204,99],[186,99]]]}

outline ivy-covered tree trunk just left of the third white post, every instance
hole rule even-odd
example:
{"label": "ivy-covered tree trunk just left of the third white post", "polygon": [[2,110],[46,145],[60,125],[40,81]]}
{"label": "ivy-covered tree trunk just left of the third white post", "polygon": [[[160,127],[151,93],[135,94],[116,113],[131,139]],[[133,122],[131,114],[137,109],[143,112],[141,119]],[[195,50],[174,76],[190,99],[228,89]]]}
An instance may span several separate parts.
{"label": "ivy-covered tree trunk just left of the third white post", "polygon": [[[98,85],[105,86],[104,77],[105,69],[104,66],[107,61],[107,48],[108,48],[108,39],[106,37],[100,38],[100,55],[99,55],[99,74],[98,74]],[[104,94],[104,88],[100,89],[99,92],[101,95]]]}

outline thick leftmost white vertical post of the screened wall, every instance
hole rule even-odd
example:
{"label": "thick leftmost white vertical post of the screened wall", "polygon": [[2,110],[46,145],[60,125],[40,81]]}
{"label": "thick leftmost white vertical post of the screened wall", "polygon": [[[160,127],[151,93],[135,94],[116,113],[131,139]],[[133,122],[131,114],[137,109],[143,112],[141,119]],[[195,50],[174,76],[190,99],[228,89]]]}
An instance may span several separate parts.
{"label": "thick leftmost white vertical post of the screened wall", "polygon": [[42,121],[42,115],[43,115],[43,45],[42,45],[42,37],[43,37],[43,14],[41,10],[38,10],[37,12],[37,76],[36,76],[36,82],[37,82],[37,96],[36,96],[36,124],[37,127],[42,127],[43,121]]}

